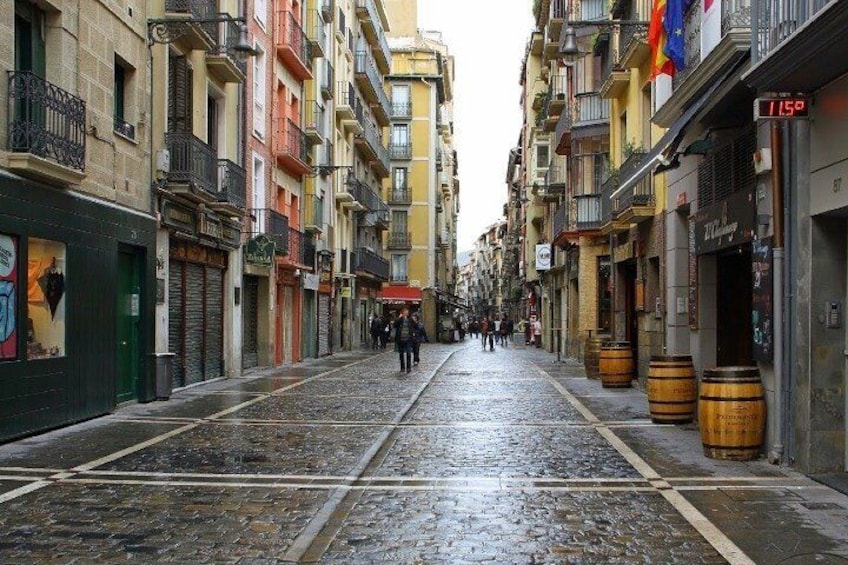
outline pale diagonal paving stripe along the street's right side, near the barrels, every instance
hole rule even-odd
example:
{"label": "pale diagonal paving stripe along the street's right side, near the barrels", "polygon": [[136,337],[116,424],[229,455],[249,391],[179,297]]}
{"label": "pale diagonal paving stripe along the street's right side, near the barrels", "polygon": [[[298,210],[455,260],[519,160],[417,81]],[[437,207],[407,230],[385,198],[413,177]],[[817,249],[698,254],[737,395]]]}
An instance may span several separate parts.
{"label": "pale diagonal paving stripe along the street's right side, near the barrels", "polygon": [[[556,380],[541,367],[538,367],[539,372],[551,382],[556,383]],[[590,422],[596,424],[598,432],[610,442],[610,444],[618,451],[633,467],[648,480],[661,480],[662,477],[654,471],[653,468],[642,459],[639,454],[630,449],[630,447],[621,441],[615,433],[606,427],[597,416],[592,413],[586,406],[583,405],[571,392],[559,383],[558,390],[568,399],[584,417]],[[555,386],[556,386],[555,385]],[[668,484],[668,483],[666,483]],[[670,485],[669,485],[670,486]],[[755,565],[739,547],[733,543],[724,533],[719,530],[715,524],[710,522],[697,508],[695,508],[682,494],[675,491],[673,488],[659,489],[658,492],[680,513],[683,518],[694,527],[703,538],[718,551],[722,557],[727,559],[731,565]]]}

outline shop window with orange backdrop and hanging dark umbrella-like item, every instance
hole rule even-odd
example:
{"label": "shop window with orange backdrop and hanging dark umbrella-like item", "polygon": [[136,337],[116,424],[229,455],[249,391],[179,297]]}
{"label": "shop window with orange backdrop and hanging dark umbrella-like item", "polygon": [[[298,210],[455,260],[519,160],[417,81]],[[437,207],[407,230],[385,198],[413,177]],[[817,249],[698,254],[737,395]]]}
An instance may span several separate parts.
{"label": "shop window with orange backdrop and hanging dark umbrella-like item", "polygon": [[65,245],[29,240],[27,358],[65,355]]}

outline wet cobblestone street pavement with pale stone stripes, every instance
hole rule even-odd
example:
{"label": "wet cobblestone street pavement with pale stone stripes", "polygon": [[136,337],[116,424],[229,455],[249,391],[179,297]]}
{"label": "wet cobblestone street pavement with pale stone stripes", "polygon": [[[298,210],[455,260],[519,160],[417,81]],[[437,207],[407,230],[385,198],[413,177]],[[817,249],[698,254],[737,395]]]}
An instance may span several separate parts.
{"label": "wet cobblestone street pavement with pale stone stripes", "polygon": [[848,564],[848,497],[540,350],[343,353],[0,446],[0,563]]}

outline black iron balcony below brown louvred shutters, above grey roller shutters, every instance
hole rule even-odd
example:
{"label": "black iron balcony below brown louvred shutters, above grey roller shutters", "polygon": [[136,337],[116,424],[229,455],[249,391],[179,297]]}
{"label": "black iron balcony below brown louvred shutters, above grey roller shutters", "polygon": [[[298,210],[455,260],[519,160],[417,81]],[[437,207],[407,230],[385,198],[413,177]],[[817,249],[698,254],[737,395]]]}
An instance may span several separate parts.
{"label": "black iron balcony below brown louvred shutters, above grey roller shutters", "polygon": [[218,200],[218,156],[215,149],[190,133],[165,133],[171,155],[168,188],[195,202]]}

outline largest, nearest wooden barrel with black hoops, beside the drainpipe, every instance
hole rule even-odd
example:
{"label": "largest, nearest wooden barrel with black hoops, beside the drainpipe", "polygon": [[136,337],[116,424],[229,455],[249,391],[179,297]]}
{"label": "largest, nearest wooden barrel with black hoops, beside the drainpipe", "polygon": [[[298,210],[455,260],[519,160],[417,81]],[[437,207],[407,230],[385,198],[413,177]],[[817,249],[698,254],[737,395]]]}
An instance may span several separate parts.
{"label": "largest, nearest wooden barrel with black hoops, beside the drainpipe", "polygon": [[704,455],[713,459],[756,459],[763,445],[766,401],[756,367],[705,369],[698,396]]}

